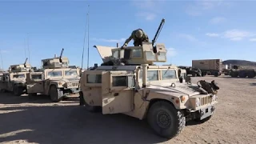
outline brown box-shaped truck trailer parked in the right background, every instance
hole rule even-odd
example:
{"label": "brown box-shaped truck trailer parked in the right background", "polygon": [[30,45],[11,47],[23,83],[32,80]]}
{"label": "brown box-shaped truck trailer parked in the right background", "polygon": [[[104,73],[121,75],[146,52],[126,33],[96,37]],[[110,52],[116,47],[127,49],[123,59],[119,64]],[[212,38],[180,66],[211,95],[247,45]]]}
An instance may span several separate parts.
{"label": "brown box-shaped truck trailer parked in the right background", "polygon": [[202,76],[214,75],[218,77],[222,74],[222,59],[192,60],[192,67],[200,69]]}

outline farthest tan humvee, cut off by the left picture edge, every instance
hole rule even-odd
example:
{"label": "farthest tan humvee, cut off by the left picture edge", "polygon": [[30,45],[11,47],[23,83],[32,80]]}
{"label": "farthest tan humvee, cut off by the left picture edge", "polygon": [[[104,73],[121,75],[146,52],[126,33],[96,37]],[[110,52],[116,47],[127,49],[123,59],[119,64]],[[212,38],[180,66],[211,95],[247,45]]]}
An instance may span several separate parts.
{"label": "farthest tan humvee, cut off by the left picture edge", "polygon": [[7,73],[2,74],[0,88],[4,91],[11,91],[15,96],[26,94],[26,74],[31,71],[31,66],[26,61],[23,64],[11,65]]}

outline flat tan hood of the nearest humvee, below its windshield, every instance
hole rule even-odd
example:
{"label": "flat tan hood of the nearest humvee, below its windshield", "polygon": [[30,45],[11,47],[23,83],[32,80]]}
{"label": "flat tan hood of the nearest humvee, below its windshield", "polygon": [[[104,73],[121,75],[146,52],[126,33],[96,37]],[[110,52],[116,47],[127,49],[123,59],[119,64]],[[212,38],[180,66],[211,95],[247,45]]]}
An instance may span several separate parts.
{"label": "flat tan hood of the nearest humvee, below its windshield", "polygon": [[[171,86],[172,83],[175,86]],[[163,82],[161,84],[150,84],[150,86],[146,87],[148,89],[153,90],[157,93],[168,94],[173,96],[181,96],[181,95],[188,95],[193,96],[197,94],[201,94],[200,90],[198,90],[198,85],[195,84],[187,84],[185,82]]]}

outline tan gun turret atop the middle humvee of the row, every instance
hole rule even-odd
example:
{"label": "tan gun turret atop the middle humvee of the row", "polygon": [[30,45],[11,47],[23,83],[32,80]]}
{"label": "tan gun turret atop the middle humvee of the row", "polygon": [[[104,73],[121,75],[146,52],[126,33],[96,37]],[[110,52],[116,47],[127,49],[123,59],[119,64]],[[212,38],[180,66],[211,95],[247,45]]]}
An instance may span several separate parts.
{"label": "tan gun turret atop the middle humvee of the row", "polygon": [[64,49],[62,49],[62,52],[59,57],[42,59],[42,68],[58,69],[69,67],[69,58],[62,57],[63,50]]}

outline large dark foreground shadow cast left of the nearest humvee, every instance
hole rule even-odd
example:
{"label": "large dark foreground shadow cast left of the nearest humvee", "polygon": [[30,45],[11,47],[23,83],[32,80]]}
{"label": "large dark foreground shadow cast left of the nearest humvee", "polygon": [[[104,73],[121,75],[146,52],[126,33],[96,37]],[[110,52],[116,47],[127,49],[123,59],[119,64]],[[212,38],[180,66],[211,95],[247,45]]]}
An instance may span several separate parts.
{"label": "large dark foreground shadow cast left of the nearest humvee", "polygon": [[[90,113],[83,106],[17,106],[0,114],[0,142],[158,143],[146,122],[123,114]],[[19,110],[19,111],[14,111]]]}

